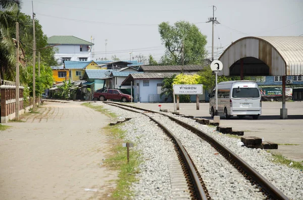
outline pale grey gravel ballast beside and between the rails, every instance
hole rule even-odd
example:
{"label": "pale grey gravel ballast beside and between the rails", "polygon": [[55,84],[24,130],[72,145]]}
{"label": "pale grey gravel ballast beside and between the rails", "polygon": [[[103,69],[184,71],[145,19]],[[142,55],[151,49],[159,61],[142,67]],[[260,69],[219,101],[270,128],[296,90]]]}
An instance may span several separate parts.
{"label": "pale grey gravel ballast beside and between the rails", "polygon": [[[132,185],[135,193],[134,199],[173,199],[168,161],[176,160],[177,158],[172,156],[176,154],[173,153],[174,148],[170,139],[146,116],[101,102],[95,104],[103,105],[111,112],[119,114],[120,118],[132,118],[130,121],[125,122],[121,128],[127,132],[126,139],[136,144],[135,149],[141,152],[143,160],[143,163],[139,166],[139,182]],[[153,115],[158,118],[161,117],[157,114]],[[173,116],[190,125],[194,125],[224,144],[290,199],[303,199],[303,173],[301,171],[272,163],[271,154],[265,150],[237,146],[239,139],[222,135],[216,131],[215,127],[202,125],[192,119],[178,115]],[[164,120],[164,117],[161,117],[161,119]],[[176,125],[174,122],[170,122],[170,120],[166,120],[165,125],[170,129],[174,129],[176,137],[182,138],[182,140],[180,139],[181,143],[192,157],[213,199],[264,198],[258,188],[251,186],[245,178],[237,175],[237,170],[228,167],[230,164],[221,155],[217,155],[216,150],[209,148],[205,141],[190,132],[186,132],[186,129]],[[209,156],[203,157],[206,153]],[[216,164],[208,165],[211,162]],[[212,167],[210,168],[209,166]],[[216,173],[213,173],[213,170]],[[230,184],[233,184],[234,187],[231,188]],[[247,191],[249,193],[248,196]]]}

